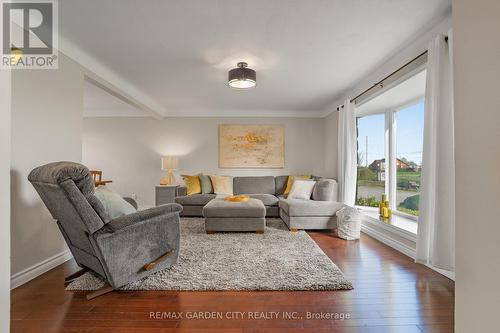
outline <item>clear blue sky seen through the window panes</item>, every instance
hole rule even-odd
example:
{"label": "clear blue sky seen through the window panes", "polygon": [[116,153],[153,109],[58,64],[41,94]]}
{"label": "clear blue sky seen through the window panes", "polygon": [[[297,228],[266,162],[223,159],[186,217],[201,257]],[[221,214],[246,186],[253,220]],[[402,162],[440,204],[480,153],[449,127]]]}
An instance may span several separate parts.
{"label": "clear blue sky seen through the window panes", "polygon": [[[366,137],[368,137],[368,165],[384,158],[385,119],[383,114],[358,118],[358,151],[366,165]],[[396,154],[418,165],[422,164],[424,137],[424,101],[396,112]]]}

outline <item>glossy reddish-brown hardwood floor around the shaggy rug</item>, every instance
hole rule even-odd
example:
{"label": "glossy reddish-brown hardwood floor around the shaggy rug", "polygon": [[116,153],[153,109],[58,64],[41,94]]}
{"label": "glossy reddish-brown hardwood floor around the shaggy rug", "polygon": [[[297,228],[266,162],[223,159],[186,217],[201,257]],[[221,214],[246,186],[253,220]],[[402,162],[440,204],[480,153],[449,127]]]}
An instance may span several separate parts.
{"label": "glossy reddish-brown hardwood floor around the shaggy rug", "polygon": [[[454,283],[363,235],[311,237],[354,284],[350,291],[113,292],[86,301],[64,291],[69,261],[12,291],[11,332],[453,332]],[[324,312],[350,319],[150,319],[150,312]]]}

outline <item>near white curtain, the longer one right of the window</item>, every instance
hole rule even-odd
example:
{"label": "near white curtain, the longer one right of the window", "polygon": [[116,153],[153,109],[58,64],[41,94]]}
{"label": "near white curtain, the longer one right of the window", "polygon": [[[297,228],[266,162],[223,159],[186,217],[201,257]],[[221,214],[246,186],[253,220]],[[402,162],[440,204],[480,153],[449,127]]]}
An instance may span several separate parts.
{"label": "near white curtain, the longer one right of the window", "polygon": [[429,45],[416,261],[455,268],[455,138],[452,35]]}

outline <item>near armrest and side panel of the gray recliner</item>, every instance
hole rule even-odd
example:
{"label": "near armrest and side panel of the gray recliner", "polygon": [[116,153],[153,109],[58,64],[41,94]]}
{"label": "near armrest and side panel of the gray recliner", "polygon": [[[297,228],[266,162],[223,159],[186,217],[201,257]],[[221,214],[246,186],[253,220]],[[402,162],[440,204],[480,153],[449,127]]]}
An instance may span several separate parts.
{"label": "near armrest and side panel of the gray recliner", "polygon": [[[167,204],[114,219],[90,236],[109,284],[119,288],[171,266],[179,255],[177,204]],[[165,260],[158,259],[169,255]],[[158,262],[152,270],[144,266]]]}

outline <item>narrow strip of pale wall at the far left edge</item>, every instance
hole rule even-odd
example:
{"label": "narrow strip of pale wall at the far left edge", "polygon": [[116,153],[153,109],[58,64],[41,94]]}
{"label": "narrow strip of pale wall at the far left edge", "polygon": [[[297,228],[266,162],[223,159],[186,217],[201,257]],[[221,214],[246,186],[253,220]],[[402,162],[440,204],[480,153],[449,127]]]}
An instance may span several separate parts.
{"label": "narrow strip of pale wall at the far left edge", "polygon": [[10,105],[11,72],[0,70],[0,332],[10,322]]}

